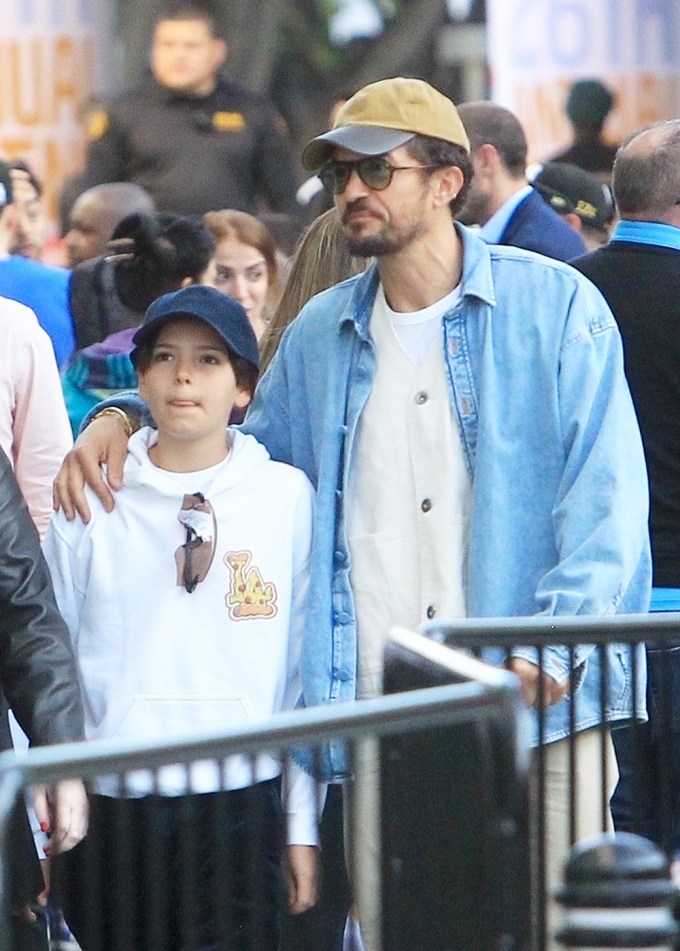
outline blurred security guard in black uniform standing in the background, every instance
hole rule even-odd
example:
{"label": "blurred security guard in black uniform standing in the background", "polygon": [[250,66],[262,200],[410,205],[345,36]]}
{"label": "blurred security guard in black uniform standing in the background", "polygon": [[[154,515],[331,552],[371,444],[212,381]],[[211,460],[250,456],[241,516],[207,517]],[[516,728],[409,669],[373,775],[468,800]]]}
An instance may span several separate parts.
{"label": "blurred security guard in black uniform standing in the background", "polygon": [[209,14],[191,6],[163,14],[153,80],[90,115],[86,167],[69,193],[128,181],[160,211],[180,215],[262,207],[296,214],[283,120],[264,97],[219,75],[226,55]]}

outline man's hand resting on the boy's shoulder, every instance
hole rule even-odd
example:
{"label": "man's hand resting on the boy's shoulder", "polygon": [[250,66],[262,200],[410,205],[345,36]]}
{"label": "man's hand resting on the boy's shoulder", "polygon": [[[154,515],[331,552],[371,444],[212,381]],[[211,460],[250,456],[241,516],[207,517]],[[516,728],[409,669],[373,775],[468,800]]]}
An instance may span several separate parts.
{"label": "man's hand resting on the boy's shoulder", "polygon": [[[107,512],[114,506],[112,489],[123,484],[123,465],[127,456],[127,436],[120,420],[106,416],[93,420],[64,459],[52,489],[55,511],[63,508],[72,521],[76,513],[84,522],[90,521],[90,508],[85,498],[87,483],[101,499]],[[106,463],[106,480],[102,465]]]}

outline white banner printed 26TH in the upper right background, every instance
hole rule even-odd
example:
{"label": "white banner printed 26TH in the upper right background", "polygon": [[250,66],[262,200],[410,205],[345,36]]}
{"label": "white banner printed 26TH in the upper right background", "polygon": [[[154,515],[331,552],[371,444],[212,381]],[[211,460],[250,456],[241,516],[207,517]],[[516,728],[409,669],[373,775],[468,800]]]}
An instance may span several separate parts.
{"label": "white banner printed 26TH in the upper right background", "polygon": [[616,95],[606,137],[680,115],[680,0],[486,0],[491,97],[520,118],[532,159],[569,144],[576,79]]}

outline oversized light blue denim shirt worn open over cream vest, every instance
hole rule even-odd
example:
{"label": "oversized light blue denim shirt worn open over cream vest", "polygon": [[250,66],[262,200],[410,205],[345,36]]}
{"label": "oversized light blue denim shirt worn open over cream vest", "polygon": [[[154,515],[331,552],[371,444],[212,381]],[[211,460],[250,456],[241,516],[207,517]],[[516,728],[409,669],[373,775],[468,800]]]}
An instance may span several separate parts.
{"label": "oversized light blue denim shirt worn open over cream vest", "polygon": [[[462,293],[443,320],[451,405],[472,477],[471,617],[645,612],[651,561],[647,476],[621,340],[599,291],[567,265],[487,246],[460,227]],[[243,429],[317,487],[307,705],[355,696],[357,643],[344,486],[375,373],[375,266],[319,294],[283,337]],[[600,722],[599,659],[577,649],[579,730]],[[520,656],[535,654],[518,650]],[[606,717],[630,716],[627,649],[609,653]],[[558,680],[569,654],[544,657]],[[640,677],[640,704],[644,704]],[[569,703],[546,741],[569,730]],[[345,772],[326,751],[325,778]]]}

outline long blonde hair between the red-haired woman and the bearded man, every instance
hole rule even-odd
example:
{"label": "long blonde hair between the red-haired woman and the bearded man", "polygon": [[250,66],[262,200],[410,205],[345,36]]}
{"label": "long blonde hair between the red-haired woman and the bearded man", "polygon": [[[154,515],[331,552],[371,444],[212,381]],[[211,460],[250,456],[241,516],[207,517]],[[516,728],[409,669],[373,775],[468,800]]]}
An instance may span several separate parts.
{"label": "long blonde hair between the red-haired woman and the bearded man", "polygon": [[260,345],[261,374],[276,353],[285,329],[307,301],[327,287],[354,274],[361,274],[369,260],[350,253],[335,208],[314,219],[300,238],[288,280],[274,316],[264,332]]}

